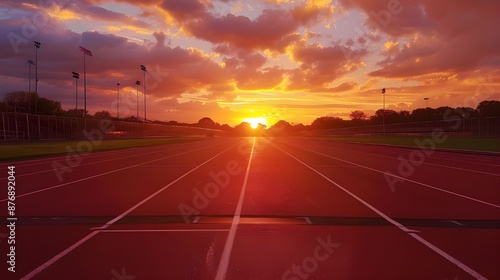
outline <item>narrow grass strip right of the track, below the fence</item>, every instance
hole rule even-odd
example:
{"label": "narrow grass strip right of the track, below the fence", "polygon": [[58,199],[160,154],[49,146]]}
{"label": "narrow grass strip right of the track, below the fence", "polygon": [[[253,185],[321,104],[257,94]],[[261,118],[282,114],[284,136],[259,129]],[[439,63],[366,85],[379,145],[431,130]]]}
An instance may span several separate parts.
{"label": "narrow grass strip right of the track, below the fence", "polygon": [[[433,141],[431,136],[326,136],[320,139],[411,147],[424,140]],[[449,136],[442,143],[433,142],[441,149],[500,152],[500,137]]]}

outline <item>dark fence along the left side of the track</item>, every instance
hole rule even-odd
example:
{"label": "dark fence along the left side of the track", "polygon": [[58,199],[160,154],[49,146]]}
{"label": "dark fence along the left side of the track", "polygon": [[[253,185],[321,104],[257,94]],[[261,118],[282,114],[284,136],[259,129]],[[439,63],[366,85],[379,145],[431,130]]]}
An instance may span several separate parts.
{"label": "dark fence along the left side of the track", "polygon": [[224,131],[198,127],[146,124],[102,119],[64,118],[3,112],[0,119],[0,140],[83,139],[97,130],[104,138],[135,138],[155,136],[221,136]]}

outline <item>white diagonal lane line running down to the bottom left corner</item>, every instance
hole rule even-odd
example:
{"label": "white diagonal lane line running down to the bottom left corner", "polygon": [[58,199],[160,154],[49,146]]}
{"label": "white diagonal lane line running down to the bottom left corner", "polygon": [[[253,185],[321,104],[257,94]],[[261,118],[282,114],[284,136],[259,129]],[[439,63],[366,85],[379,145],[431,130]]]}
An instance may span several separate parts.
{"label": "white diagonal lane line running down to the bottom left corner", "polygon": [[131,208],[129,208],[128,210],[126,210],[125,212],[123,212],[122,214],[118,215],[116,218],[110,220],[109,222],[107,222],[106,224],[104,224],[103,226],[101,227],[98,227],[96,228],[96,231],[93,231],[91,233],[89,233],[87,236],[85,236],[84,238],[80,239],[79,241],[77,241],[75,244],[69,246],[68,248],[66,248],[64,251],[60,252],[59,254],[55,255],[54,257],[52,257],[50,260],[46,261],[45,263],[43,263],[42,265],[40,265],[39,267],[35,268],[33,271],[31,271],[30,273],[28,273],[26,276],[24,276],[23,278],[21,278],[21,280],[29,280],[33,277],[35,277],[37,274],[39,274],[40,272],[42,272],[43,270],[45,270],[46,268],[50,267],[51,265],[53,265],[55,262],[57,262],[59,259],[61,259],[62,257],[64,257],[65,255],[69,254],[71,251],[73,251],[74,249],[76,249],[78,246],[82,245],[83,243],[85,243],[87,240],[89,240],[90,238],[94,237],[97,233],[107,229],[109,226],[111,226],[112,224],[114,224],[116,221],[120,220],[121,218],[125,217],[127,214],[129,214],[130,212],[134,211],[135,209],[137,209],[139,206],[143,205],[144,203],[146,203],[147,201],[149,201],[150,199],[152,199],[153,197],[157,196],[159,193],[163,192],[164,190],[166,190],[168,187],[172,186],[173,184],[177,183],[178,181],[180,181],[181,179],[183,179],[184,177],[188,176],[189,174],[191,174],[192,172],[194,172],[195,170],[197,170],[198,168],[200,168],[201,166],[205,165],[206,163],[210,162],[211,160],[213,160],[214,158],[220,156],[221,154],[225,153],[226,151],[230,150],[231,148],[233,147],[236,147],[237,145],[233,145],[225,150],[223,150],[222,152],[216,154],[215,156],[211,157],[210,159],[204,161],[203,163],[199,164],[198,166],[194,167],[193,169],[191,169],[190,171],[184,173],[182,176],[178,177],[177,179],[175,179],[174,181],[170,182],[168,185],[162,187],[161,189],[159,189],[158,191],[154,192],[153,194],[151,194],[150,196],[146,197],[145,199],[143,199],[142,201],[140,201],[139,203],[137,203],[136,205],[132,206]]}

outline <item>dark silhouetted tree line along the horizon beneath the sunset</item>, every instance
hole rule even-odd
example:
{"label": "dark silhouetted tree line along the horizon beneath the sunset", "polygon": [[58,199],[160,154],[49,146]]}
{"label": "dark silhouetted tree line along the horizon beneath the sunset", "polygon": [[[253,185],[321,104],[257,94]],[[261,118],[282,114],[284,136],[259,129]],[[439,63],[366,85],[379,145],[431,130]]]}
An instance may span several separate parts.
{"label": "dark silhouetted tree line along the horizon beneath the sunset", "polygon": [[[108,111],[98,111],[93,115],[88,115],[83,109],[62,109],[61,102],[39,97],[34,92],[16,91],[10,92],[5,95],[0,101],[0,111],[4,112],[31,112],[40,115],[60,116],[60,117],[83,117],[87,113],[89,118],[109,118],[114,119]],[[451,114],[451,115],[450,115]],[[498,100],[485,100],[480,102],[476,108],[471,107],[448,107],[443,106],[439,108],[418,108],[413,111],[394,111],[379,109],[374,115],[368,116],[363,111],[355,110],[349,114],[349,120],[344,120],[339,117],[323,116],[316,118],[311,124],[292,124],[286,120],[280,120],[271,127],[260,125],[256,129],[250,127],[249,123],[242,122],[235,127],[227,124],[219,124],[209,117],[204,117],[198,123],[179,123],[177,121],[151,121],[155,124],[163,125],[180,125],[180,126],[196,126],[208,129],[231,131],[236,134],[243,135],[263,135],[266,131],[267,134],[293,134],[298,131],[316,130],[316,129],[330,129],[330,128],[344,128],[355,126],[367,125],[380,125],[384,121],[386,124],[393,123],[409,123],[409,122],[425,122],[425,121],[442,121],[446,115],[458,116],[460,118],[485,118],[485,117],[499,117],[500,116],[500,101]],[[121,118],[124,121],[138,121],[135,116],[128,116]]]}

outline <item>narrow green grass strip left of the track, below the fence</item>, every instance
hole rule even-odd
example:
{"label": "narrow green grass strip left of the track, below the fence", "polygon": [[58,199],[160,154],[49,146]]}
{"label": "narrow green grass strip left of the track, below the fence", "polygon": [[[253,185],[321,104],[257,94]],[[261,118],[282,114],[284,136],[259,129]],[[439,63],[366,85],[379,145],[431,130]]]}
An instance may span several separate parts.
{"label": "narrow green grass strip left of the track, below the fence", "polygon": [[[116,149],[137,148],[145,146],[155,146],[179,142],[198,141],[204,138],[146,138],[146,139],[111,139],[91,143],[87,140],[78,141],[35,141],[35,142],[17,142],[8,143],[0,146],[0,162],[7,160],[20,160],[27,158],[45,157],[59,154],[67,154],[71,151],[80,149],[86,151],[91,147],[92,152],[107,151]],[[83,143],[83,144],[82,144]],[[89,146],[89,144],[91,146]]]}

